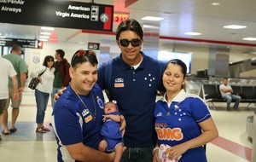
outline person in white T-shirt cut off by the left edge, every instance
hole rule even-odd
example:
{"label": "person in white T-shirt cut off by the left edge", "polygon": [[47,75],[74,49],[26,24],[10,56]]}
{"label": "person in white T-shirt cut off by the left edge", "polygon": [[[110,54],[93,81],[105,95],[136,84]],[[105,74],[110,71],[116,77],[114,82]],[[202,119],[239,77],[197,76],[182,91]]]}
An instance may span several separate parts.
{"label": "person in white T-shirt cut off by the left edge", "polygon": [[[9,78],[12,79],[14,85],[14,99],[15,101],[19,101],[20,96],[18,92],[18,81],[17,81],[17,72],[15,72],[15,68],[13,67],[12,63],[0,57],[0,129],[3,124],[3,110],[6,107],[8,98],[9,98],[9,90],[8,90],[8,81]],[[5,134],[4,130],[2,134]],[[8,133],[9,134],[9,133]],[[2,141],[2,136],[0,136],[0,141]]]}

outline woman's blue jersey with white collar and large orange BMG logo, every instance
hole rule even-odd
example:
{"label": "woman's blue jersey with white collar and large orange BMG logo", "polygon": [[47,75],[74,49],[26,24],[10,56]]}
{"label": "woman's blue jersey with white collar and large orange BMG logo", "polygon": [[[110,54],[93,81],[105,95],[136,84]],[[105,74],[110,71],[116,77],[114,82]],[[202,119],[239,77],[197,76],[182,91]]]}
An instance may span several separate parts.
{"label": "woman's blue jersey with white collar and large orange BMG logo", "polygon": [[[165,97],[157,101],[154,110],[155,130],[159,145],[175,146],[201,135],[198,123],[211,118],[207,104],[200,97],[181,90],[170,107]],[[192,148],[183,153],[179,162],[206,162],[204,148]]]}

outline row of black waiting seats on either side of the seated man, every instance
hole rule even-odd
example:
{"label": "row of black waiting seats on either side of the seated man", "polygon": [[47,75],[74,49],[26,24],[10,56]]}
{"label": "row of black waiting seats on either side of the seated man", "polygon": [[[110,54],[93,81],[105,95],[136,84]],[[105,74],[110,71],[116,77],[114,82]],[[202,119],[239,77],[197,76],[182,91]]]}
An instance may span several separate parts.
{"label": "row of black waiting seats on either side of the seated man", "polygon": [[[256,87],[253,85],[231,85],[234,93],[241,96],[241,102],[248,103],[247,108],[251,103],[256,107]],[[219,91],[219,84],[202,84],[202,98],[206,102],[211,102],[216,109],[214,102],[225,102]]]}

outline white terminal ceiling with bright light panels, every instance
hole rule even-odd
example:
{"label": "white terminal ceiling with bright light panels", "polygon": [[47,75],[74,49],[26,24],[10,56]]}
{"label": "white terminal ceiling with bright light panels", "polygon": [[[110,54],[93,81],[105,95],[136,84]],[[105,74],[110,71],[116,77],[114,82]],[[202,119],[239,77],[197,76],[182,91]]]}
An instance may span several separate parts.
{"label": "white terminal ceiling with bright light panels", "polygon": [[[79,0],[76,0],[79,1]],[[160,42],[183,43],[219,43],[236,45],[244,51],[256,51],[256,42],[242,38],[256,38],[256,1],[255,0],[126,0],[132,3],[125,8],[125,0],[80,0],[84,3],[102,3],[114,5],[114,12],[125,12],[130,18],[146,23],[142,18],[147,15],[160,16]],[[133,3],[135,2],[135,3]],[[211,3],[220,3],[212,6]],[[0,15],[1,16],[1,15]],[[245,29],[224,29],[226,25],[247,26]],[[38,38],[40,26],[23,26],[0,23],[0,33],[8,38]],[[117,25],[113,25],[115,32]],[[184,35],[184,32],[201,32],[200,36]],[[81,30],[55,28],[58,42],[102,42],[114,41],[113,35],[98,35]],[[179,41],[178,41],[179,42]],[[254,48],[255,46],[255,48]]]}

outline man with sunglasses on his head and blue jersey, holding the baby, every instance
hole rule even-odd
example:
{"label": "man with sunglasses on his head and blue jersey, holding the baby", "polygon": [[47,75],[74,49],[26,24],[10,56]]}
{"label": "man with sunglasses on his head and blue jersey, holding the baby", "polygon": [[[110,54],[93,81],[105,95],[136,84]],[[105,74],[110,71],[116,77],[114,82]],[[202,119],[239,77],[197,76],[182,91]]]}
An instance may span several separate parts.
{"label": "man with sunglasses on his head and blue jersey, holding the baby", "polygon": [[52,125],[58,144],[58,161],[113,161],[114,153],[96,150],[102,141],[104,98],[97,80],[96,54],[79,50],[69,69],[72,78],[55,103]]}

